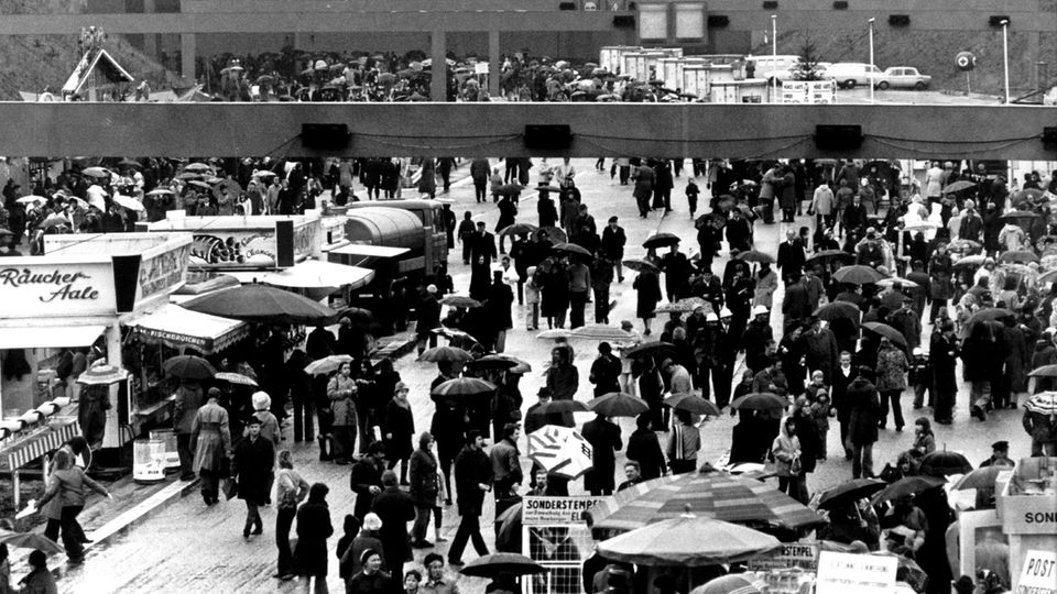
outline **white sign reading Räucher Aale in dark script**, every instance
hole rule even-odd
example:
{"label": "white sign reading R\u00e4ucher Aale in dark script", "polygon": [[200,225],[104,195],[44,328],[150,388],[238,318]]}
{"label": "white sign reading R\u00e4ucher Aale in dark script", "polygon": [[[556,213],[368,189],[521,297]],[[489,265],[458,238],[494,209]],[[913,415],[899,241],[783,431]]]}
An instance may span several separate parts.
{"label": "white sign reading R\u00e4ucher Aale in dark script", "polygon": [[[6,318],[99,316],[113,314],[109,262],[0,263],[0,304]],[[3,264],[9,264],[3,266]]]}

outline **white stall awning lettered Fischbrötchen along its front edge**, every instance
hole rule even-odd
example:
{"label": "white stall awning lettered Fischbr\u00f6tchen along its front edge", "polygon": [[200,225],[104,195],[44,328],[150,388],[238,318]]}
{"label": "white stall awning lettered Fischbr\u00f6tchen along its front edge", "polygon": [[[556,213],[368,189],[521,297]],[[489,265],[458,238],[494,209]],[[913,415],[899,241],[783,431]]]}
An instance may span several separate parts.
{"label": "white stall awning lettered Fischbr\u00f6tchen along its front edge", "polygon": [[173,304],[129,322],[129,327],[135,328],[146,342],[174,349],[189,346],[205,354],[222,351],[250,332],[246,322],[198,314]]}

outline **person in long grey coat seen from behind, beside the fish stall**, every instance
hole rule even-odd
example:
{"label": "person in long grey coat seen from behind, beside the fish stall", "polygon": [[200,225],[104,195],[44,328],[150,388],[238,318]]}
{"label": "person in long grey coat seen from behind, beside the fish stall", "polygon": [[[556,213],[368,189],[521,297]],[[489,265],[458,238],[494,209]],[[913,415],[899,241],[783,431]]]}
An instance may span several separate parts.
{"label": "person in long grey coat seen from behind, beside the fish stall", "polygon": [[217,402],[219,388],[209,388],[209,399],[195,414],[188,444],[195,452],[192,469],[201,479],[201,498],[206,505],[219,502],[219,482],[226,477],[225,463],[231,455],[231,427],[228,411]]}

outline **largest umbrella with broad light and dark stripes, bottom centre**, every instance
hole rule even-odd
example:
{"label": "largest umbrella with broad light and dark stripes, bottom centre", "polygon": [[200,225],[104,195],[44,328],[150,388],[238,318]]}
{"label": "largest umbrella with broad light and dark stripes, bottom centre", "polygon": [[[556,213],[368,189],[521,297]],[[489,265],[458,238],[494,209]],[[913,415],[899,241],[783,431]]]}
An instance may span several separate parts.
{"label": "largest umbrella with broad light and dark stripes, bottom centre", "polygon": [[774,485],[722,472],[646,481],[617,493],[588,514],[592,529],[622,532],[678,517],[687,505],[695,514],[733,524],[799,529],[826,522]]}

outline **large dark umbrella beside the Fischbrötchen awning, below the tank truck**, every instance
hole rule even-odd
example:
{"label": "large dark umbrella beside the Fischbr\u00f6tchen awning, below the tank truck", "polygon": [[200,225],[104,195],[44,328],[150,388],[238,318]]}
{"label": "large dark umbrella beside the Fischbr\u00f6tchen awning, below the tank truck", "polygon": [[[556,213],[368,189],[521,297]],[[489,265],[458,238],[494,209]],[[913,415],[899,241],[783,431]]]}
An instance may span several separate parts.
{"label": "large dark umbrella beside the Fischbr\u00f6tchen awning, below the tank truck", "polygon": [[265,323],[317,324],[335,320],[338,312],[296,293],[266,285],[241,285],[203,295],[183,304],[184,309]]}

